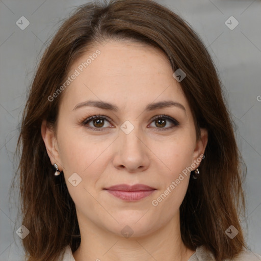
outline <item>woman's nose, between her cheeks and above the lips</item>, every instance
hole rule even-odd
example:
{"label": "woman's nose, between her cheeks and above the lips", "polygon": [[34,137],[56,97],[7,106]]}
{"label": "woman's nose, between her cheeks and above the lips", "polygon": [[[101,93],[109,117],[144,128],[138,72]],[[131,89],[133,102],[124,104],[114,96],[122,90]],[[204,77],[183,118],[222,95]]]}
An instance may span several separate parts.
{"label": "woman's nose, between her cheeks and above the lips", "polygon": [[119,137],[114,146],[113,165],[115,168],[135,173],[144,171],[149,167],[149,145],[146,144],[146,139],[139,132],[138,127],[134,127],[129,134],[120,129]]}

